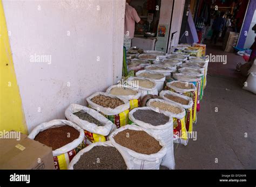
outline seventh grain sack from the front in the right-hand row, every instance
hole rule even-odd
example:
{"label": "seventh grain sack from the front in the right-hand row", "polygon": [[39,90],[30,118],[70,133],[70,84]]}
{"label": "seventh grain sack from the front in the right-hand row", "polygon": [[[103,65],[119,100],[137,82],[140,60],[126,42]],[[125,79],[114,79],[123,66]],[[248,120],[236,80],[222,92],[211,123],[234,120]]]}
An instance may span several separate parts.
{"label": "seventh grain sack from the front in the right-hand row", "polygon": [[179,73],[183,73],[183,74],[187,74],[187,75],[197,75],[201,77],[201,84],[200,84],[200,92],[199,92],[199,96],[200,99],[203,98],[204,95],[204,80],[205,80],[205,73],[204,73],[204,69],[197,69],[196,67],[184,67],[184,68],[179,68],[178,69]]}

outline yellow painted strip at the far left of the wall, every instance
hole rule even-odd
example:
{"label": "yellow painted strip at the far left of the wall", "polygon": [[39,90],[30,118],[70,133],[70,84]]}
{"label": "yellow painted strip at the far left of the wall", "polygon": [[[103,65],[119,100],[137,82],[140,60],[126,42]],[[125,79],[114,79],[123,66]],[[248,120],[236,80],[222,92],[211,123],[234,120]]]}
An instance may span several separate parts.
{"label": "yellow painted strip at the far left of the wall", "polygon": [[0,0],[0,131],[11,130],[28,133]]}

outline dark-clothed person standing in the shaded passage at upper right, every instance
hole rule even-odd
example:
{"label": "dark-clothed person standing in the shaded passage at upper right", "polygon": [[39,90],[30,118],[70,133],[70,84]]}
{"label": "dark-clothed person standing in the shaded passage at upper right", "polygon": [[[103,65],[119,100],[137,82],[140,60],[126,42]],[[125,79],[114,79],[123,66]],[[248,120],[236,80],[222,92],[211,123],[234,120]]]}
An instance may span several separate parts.
{"label": "dark-clothed person standing in the shaded passage at upper right", "polygon": [[217,40],[219,38],[219,35],[220,35],[220,31],[222,30],[223,26],[224,26],[224,15],[225,15],[225,12],[221,12],[220,13],[220,16],[217,16],[214,21],[213,21],[213,24],[212,24],[212,30],[213,30],[213,33],[212,33],[212,42],[214,41],[214,44],[216,45],[217,44]]}

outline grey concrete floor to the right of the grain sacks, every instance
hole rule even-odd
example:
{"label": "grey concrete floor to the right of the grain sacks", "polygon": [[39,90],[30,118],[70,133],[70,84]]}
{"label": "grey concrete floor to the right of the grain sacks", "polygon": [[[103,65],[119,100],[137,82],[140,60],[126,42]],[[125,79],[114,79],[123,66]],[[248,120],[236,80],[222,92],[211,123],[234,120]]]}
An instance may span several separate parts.
{"label": "grey concrete floor to the right of the grain sacks", "polygon": [[226,54],[228,63],[208,66],[207,87],[193,129],[197,140],[187,146],[174,144],[176,169],[256,169],[256,96],[242,90],[241,77],[234,71],[244,60],[220,46],[207,45],[207,53]]}

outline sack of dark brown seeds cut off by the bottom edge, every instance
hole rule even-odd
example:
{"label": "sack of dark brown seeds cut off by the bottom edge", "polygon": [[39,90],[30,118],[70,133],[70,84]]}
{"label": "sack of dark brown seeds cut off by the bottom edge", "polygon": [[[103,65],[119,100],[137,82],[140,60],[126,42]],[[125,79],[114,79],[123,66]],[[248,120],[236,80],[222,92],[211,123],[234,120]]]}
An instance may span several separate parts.
{"label": "sack of dark brown seeds cut off by the bottom edge", "polygon": [[92,143],[81,150],[68,169],[127,169],[123,156],[110,141]]}

